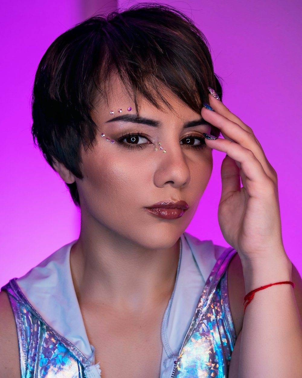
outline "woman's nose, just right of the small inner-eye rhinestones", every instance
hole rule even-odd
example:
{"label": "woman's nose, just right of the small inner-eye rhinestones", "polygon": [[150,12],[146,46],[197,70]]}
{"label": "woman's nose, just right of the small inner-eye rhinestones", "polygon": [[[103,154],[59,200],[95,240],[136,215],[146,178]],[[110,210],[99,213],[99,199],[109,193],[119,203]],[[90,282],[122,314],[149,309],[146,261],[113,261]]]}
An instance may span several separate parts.
{"label": "woman's nose, just right of the small inner-eye rhinestones", "polygon": [[[164,143],[162,143],[164,146]],[[156,171],[154,173],[154,184],[157,187],[171,185],[173,187],[185,187],[190,183],[191,175],[188,166],[188,159],[179,146],[164,146],[163,150],[154,151],[156,159]]]}

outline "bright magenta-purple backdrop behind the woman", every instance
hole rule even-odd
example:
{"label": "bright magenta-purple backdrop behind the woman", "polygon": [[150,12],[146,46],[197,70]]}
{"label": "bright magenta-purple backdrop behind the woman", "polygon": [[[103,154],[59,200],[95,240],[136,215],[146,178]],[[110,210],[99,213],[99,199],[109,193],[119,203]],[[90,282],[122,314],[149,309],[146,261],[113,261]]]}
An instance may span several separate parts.
{"label": "bright magenta-purple backdrop behind the woman", "polygon": [[[302,273],[301,2],[168,3],[192,17],[205,34],[215,72],[223,78],[223,102],[254,129],[277,171],[284,244]],[[89,14],[133,4],[18,0],[2,5],[0,285],[79,235],[79,212],[31,138],[37,65],[59,34]],[[222,158],[214,152],[213,177],[187,231],[227,245],[217,222]]]}

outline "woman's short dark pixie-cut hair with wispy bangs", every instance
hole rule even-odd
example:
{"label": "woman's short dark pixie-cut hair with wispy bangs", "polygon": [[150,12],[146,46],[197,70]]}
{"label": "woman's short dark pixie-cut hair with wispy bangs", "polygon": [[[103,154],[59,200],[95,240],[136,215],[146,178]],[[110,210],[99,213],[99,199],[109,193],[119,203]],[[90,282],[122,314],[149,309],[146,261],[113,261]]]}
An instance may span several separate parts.
{"label": "woman's short dark pixie-cut hair with wispy bangs", "polygon": [[[97,99],[108,99],[112,75],[131,94],[137,115],[138,96],[158,109],[169,106],[163,85],[197,113],[208,87],[222,98],[208,41],[182,12],[143,3],[91,17],[49,46],[35,75],[32,135],[51,167],[56,160],[83,178],[80,150],[96,140],[92,111]],[[215,127],[211,133],[219,135]],[[80,206],[76,183],[66,185]]]}

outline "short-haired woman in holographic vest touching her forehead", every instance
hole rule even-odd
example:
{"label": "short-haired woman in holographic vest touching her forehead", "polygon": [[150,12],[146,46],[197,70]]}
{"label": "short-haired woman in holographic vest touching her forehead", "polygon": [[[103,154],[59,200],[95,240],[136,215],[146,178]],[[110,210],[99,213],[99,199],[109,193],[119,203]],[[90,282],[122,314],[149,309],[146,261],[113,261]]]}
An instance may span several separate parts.
{"label": "short-haired woman in holographic vest touching her forehead", "polygon": [[[2,288],[1,376],[299,376],[302,285],[276,173],[221,99],[205,37],[173,8],[94,17],[52,43],[32,133],[81,232]],[[184,232],[212,149],[228,249]]]}

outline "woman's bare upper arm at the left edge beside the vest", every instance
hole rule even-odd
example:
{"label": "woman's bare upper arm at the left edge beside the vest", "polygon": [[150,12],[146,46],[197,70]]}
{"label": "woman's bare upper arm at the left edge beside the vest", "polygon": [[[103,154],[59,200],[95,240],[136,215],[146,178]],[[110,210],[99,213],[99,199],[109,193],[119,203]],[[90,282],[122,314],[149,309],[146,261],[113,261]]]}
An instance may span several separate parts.
{"label": "woman's bare upper arm at the left edge beside the vest", "polygon": [[0,376],[20,378],[17,328],[8,294],[0,292]]}

